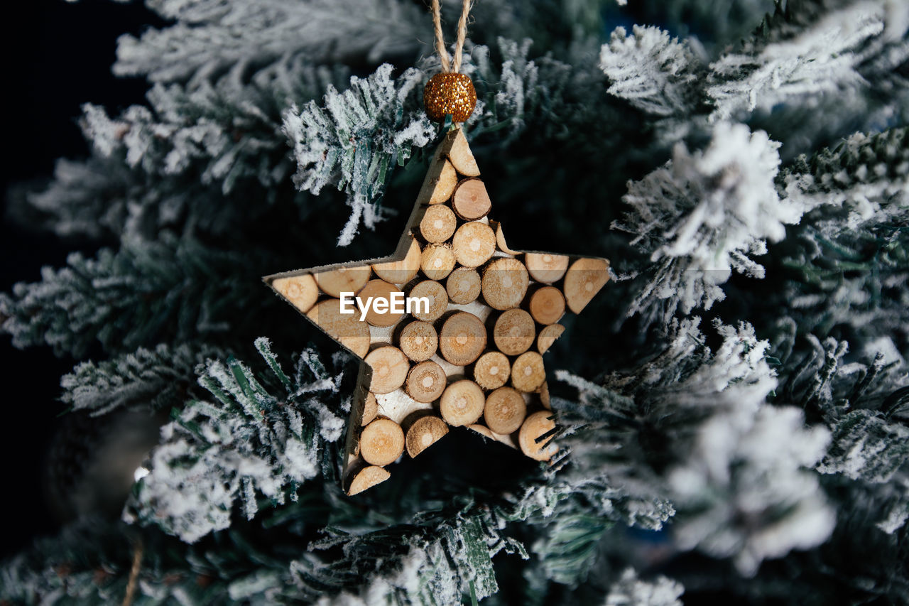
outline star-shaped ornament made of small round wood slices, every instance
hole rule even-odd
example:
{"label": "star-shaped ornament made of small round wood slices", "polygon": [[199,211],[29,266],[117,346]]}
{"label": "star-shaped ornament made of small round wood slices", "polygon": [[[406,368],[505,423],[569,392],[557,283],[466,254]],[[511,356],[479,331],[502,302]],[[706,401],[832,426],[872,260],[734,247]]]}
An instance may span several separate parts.
{"label": "star-shaped ornament made of small round wood slices", "polygon": [[435,151],[394,255],[265,278],[364,360],[347,429],[345,490],[387,480],[451,427],[551,460],[543,354],[609,279],[609,261],[515,251],[460,128]]}

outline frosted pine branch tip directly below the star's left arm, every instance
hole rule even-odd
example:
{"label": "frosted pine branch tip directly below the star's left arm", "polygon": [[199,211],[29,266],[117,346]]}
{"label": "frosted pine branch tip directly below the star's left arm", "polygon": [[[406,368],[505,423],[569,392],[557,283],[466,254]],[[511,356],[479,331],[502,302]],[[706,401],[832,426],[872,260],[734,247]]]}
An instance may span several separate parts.
{"label": "frosted pine branch tip directly below the star's left arm", "polygon": [[287,375],[267,339],[255,345],[268,375],[234,359],[206,363],[199,384],[215,401],[187,404],[162,429],[163,442],[128,506],[135,520],[195,542],[230,526],[236,502],[252,519],[259,495],[280,505],[296,500],[298,487],[320,472],[337,479],[335,443],[350,407],[349,399],[332,401],[341,375],[311,350]]}

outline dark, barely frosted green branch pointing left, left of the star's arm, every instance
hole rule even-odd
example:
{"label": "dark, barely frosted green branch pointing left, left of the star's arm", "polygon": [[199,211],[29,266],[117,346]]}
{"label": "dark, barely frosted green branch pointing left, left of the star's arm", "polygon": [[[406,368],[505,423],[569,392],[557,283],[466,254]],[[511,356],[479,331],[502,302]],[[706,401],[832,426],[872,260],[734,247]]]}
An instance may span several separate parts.
{"label": "dark, barely frosted green branch pointing left, left of the star's arm", "polygon": [[250,284],[265,273],[247,253],[225,253],[193,239],[70,255],[68,267],[45,268],[42,281],[0,295],[3,329],[17,348],[50,345],[57,355],[85,355],[95,341],[117,353],[201,336],[229,338],[242,326],[237,309],[272,303]]}

